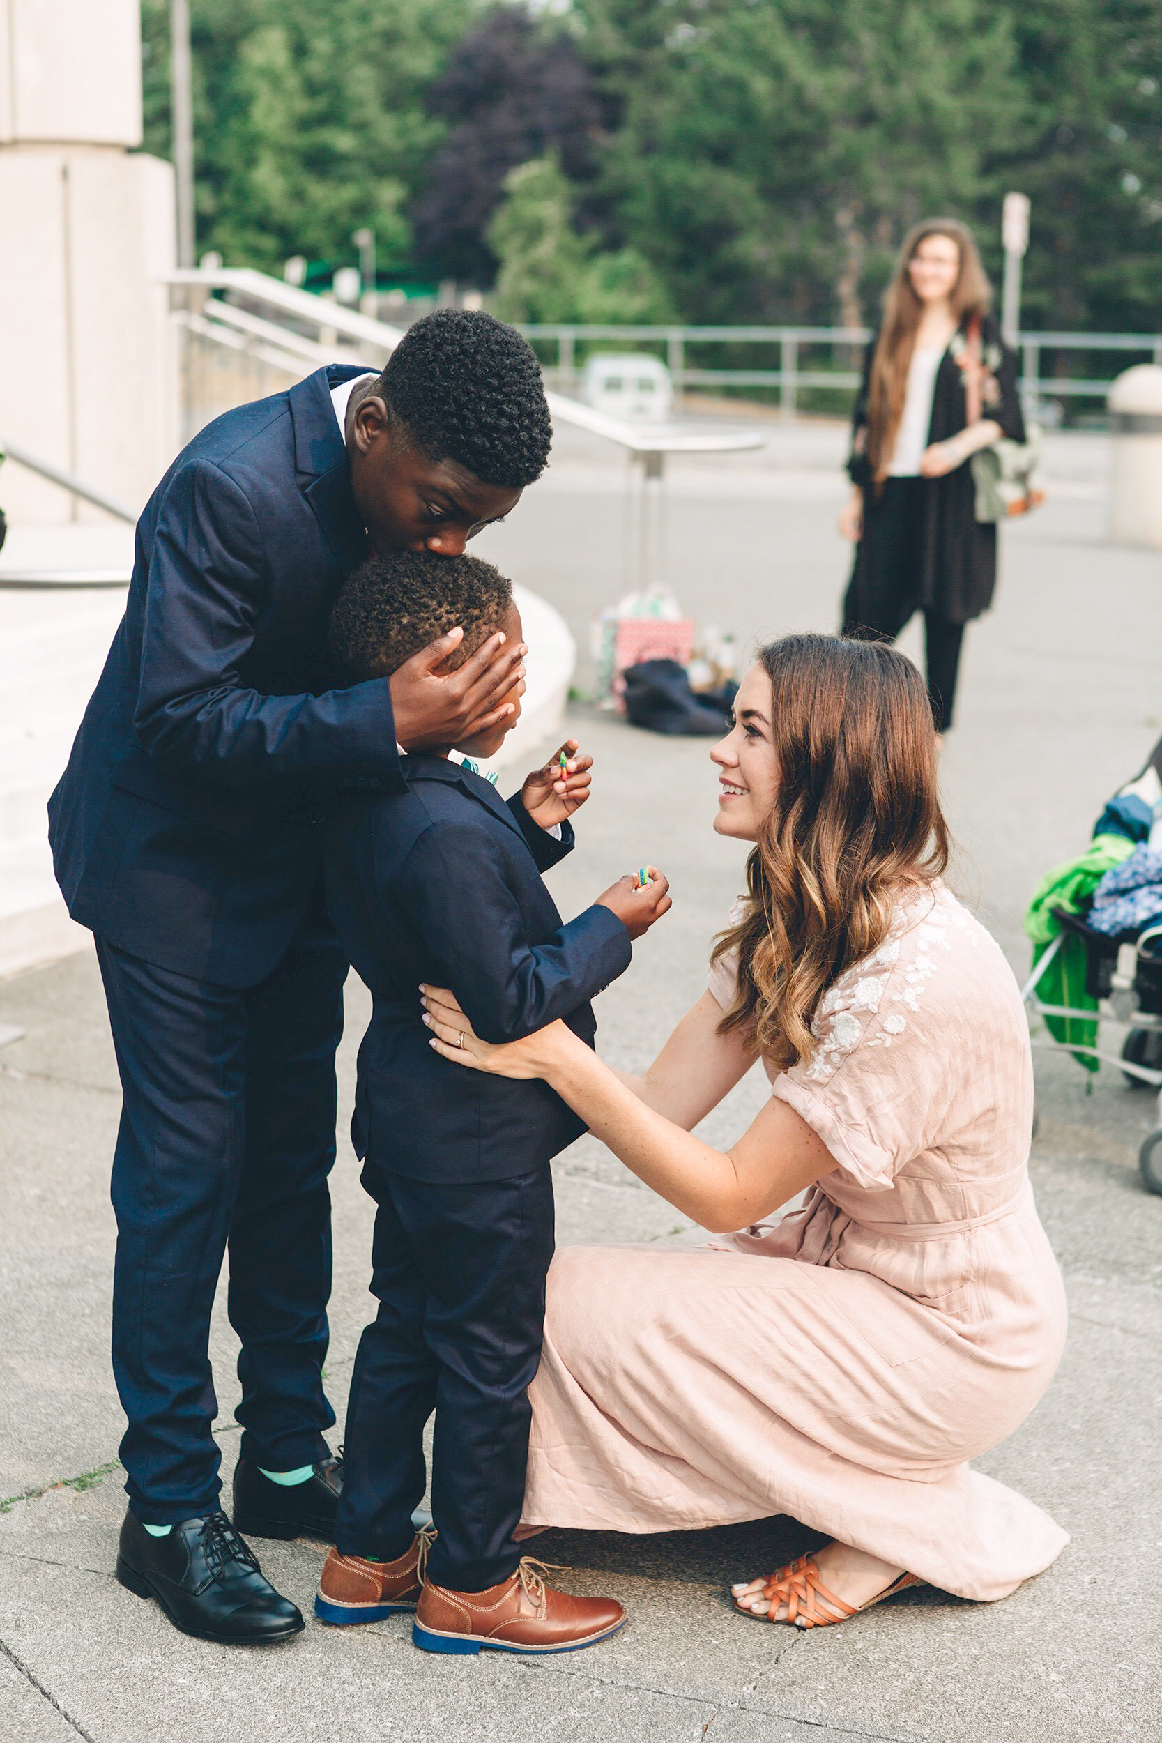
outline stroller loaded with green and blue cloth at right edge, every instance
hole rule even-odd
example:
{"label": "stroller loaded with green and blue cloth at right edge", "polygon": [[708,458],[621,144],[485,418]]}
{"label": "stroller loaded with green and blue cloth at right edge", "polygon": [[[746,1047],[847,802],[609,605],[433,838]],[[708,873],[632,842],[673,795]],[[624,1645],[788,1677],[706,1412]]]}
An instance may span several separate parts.
{"label": "stroller loaded with green and blue cloth at right edge", "polygon": [[[1021,988],[1031,1018],[1085,1070],[1106,1060],[1131,1088],[1157,1091],[1155,1126],[1138,1164],[1162,1194],[1162,739],[1118,788],[1089,849],[1038,884],[1024,929],[1033,973]],[[1120,1055],[1103,1051],[1101,1018],[1127,1023]]]}

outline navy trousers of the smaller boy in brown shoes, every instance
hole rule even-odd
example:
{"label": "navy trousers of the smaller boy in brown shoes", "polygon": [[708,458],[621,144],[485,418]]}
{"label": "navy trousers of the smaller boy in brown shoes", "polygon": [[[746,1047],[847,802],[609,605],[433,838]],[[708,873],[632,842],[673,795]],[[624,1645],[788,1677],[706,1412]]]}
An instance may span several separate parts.
{"label": "navy trousers of the smaller boy in brown shoes", "polygon": [[512,1532],[554,1246],[552,1173],[448,1185],[366,1163],[362,1182],[378,1204],[380,1309],[355,1354],[334,1541],[343,1555],[404,1553],[436,1412],[429,1577],[483,1591],[521,1558]]}

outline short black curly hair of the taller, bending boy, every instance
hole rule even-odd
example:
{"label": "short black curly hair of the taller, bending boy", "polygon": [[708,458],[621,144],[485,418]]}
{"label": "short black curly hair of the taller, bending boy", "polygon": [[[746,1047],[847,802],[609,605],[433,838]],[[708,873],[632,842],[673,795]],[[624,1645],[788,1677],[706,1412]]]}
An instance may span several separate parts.
{"label": "short black curly hair of the taller, bending boy", "polygon": [[388,357],[378,389],[432,460],[523,490],[545,469],[552,424],[540,364],[516,328],[479,309],[436,309]]}

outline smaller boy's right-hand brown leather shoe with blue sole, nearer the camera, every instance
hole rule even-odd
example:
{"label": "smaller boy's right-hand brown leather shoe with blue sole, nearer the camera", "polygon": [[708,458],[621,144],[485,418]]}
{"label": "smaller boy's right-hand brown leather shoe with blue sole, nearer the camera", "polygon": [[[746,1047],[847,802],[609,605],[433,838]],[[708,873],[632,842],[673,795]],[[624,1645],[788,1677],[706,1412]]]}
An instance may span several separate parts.
{"label": "smaller boy's right-hand brown leather shoe with blue sole, nearer the camera", "polygon": [[486,1591],[449,1591],[423,1581],[413,1645],[425,1652],[577,1652],[625,1623],[613,1598],[575,1598],[545,1581],[547,1565],[531,1556],[510,1579]]}

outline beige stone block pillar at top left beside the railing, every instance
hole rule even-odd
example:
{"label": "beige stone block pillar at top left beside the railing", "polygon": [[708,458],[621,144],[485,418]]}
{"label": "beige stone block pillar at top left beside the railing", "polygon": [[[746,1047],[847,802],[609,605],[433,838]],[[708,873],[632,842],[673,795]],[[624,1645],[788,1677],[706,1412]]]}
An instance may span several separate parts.
{"label": "beige stone block pillar at top left beside the railing", "polygon": [[[138,0],[0,0],[0,439],[139,509],[178,446],[172,171]],[[12,521],[101,519],[16,464]]]}

